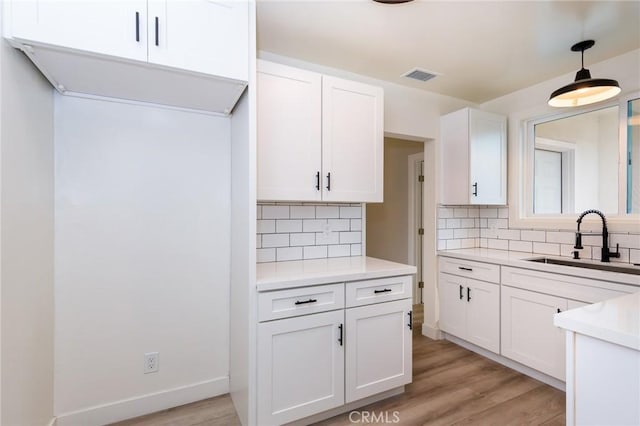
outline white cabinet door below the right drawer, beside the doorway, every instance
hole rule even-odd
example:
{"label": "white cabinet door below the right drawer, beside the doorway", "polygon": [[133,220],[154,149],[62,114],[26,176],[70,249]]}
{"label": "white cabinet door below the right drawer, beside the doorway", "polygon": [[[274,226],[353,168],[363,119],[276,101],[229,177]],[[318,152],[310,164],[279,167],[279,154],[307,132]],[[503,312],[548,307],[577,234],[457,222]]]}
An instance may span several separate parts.
{"label": "white cabinet door below the right drawer, beside the doorway", "polygon": [[346,324],[346,402],[411,382],[411,299],[350,308]]}

